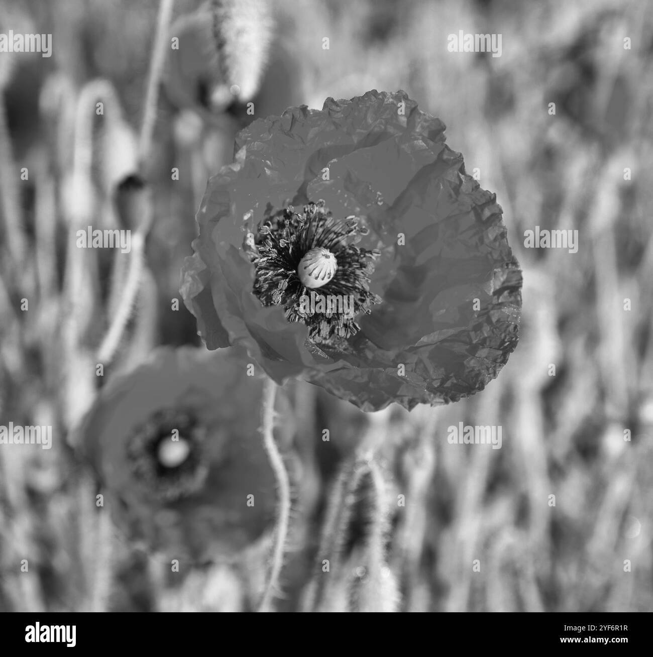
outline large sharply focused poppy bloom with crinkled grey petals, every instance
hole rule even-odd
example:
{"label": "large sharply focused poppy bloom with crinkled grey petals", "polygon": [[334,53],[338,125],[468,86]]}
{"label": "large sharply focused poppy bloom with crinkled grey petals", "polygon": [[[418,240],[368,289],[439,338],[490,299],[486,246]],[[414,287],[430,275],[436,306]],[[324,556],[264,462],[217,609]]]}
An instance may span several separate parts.
{"label": "large sharply focused poppy bloom with crinkled grey petals", "polygon": [[[518,340],[521,271],[444,130],[405,92],[369,91],[241,131],[182,271],[206,346],[364,411],[482,390]],[[319,295],[351,299],[355,319],[306,306]]]}

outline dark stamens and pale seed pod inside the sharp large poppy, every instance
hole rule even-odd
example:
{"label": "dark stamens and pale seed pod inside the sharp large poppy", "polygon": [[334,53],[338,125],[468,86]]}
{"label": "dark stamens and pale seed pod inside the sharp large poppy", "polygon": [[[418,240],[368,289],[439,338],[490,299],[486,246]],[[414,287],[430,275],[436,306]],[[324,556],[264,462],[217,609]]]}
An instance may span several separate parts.
{"label": "dark stamens and pale seed pod inside the sharp large poppy", "polygon": [[250,244],[254,294],[263,306],[282,306],[288,321],[304,323],[314,342],[355,335],[355,317],[381,302],[369,291],[380,252],[355,246],[368,232],[359,217],[332,217],[323,200],[302,212],[287,206],[259,225]]}

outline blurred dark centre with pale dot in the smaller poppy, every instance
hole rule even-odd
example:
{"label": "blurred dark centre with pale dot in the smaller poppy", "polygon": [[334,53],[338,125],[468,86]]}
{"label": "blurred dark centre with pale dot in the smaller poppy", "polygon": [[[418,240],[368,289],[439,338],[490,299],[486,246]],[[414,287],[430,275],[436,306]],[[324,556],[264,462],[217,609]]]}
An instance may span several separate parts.
{"label": "blurred dark centre with pale dot in the smaller poppy", "polygon": [[192,413],[157,411],[127,441],[127,457],[138,482],[171,502],[196,492],[206,479],[206,429]]}

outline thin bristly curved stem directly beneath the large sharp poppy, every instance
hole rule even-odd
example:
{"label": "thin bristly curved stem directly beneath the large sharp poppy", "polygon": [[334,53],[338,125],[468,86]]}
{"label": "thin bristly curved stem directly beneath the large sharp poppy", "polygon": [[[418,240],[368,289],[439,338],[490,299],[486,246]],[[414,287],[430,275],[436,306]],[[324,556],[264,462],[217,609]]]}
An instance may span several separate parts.
{"label": "thin bristly curved stem directly beneath the large sharp poppy", "polygon": [[288,525],[290,522],[290,479],[288,478],[288,471],[286,470],[281,452],[273,435],[276,395],[277,384],[270,378],[265,378],[263,384],[263,409],[261,411],[261,434],[263,435],[263,447],[265,448],[275,474],[275,479],[277,480],[279,502],[277,504],[277,522],[275,525],[275,539],[270,573],[259,604],[259,612],[271,610],[271,600],[278,591],[279,574],[281,574],[281,568],[283,566],[284,549],[286,547],[286,537],[288,536]]}

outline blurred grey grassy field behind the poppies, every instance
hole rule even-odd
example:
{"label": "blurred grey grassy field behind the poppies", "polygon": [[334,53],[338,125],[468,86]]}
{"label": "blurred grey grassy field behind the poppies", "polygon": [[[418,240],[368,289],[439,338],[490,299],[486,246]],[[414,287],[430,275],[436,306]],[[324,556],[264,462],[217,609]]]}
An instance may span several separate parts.
{"label": "blurred grey grassy field behind the poppies", "polygon": [[[244,5],[256,30],[258,3]],[[190,30],[197,74],[180,79],[166,62],[139,169],[158,3],[0,2],[0,33],[53,34],[51,58],[0,53],[0,424],[50,424],[55,436],[50,451],[0,445],[0,610],[246,607],[260,555],[240,570],[212,567],[171,583],[165,559],[135,551],[95,512],[93,483],[56,438],[70,434],[102,384],[95,354],[127,275],[125,259],[74,249],[74,227],[125,227],[116,185],[137,170],[146,177],[153,221],[139,292],[105,378],[157,344],[199,344],[194,318],[183,305],[171,311],[171,299],[206,178],[231,160],[236,131],[292,104],[321,108],[326,97],[374,88],[404,89],[441,118],[468,173],[478,168],[482,187],[497,193],[524,268],[521,339],[484,392],[438,409],[371,419],[311,386],[288,386],[307,501],[282,605],[308,604],[329,491],[372,422],[385,438],[390,494],[407,499],[387,518],[382,556],[399,609],[651,610],[653,7],[277,0],[253,117],[243,103],[207,101],[220,74],[202,57],[206,30],[188,27],[189,16],[206,16],[199,7],[174,3],[173,30]],[[501,57],[447,52],[447,35],[459,30],[501,34]],[[238,48],[244,69],[256,68]],[[577,229],[578,252],[524,248],[536,225]],[[502,448],[449,445],[447,426],[460,421],[501,425]],[[324,427],[330,443],[319,439]],[[355,549],[343,556],[354,570],[357,558]],[[366,608],[365,595],[358,600]]]}

